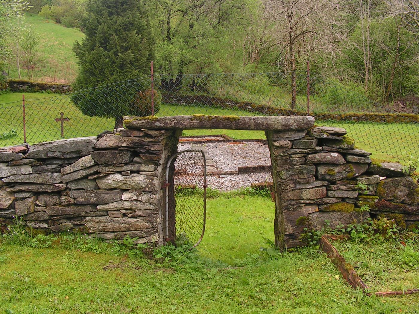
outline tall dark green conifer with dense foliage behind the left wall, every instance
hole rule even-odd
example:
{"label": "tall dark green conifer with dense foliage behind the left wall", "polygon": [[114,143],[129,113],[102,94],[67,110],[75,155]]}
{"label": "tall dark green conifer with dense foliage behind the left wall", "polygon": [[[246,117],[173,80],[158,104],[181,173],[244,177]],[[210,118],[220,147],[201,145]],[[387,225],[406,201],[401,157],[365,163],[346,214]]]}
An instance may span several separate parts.
{"label": "tall dark green conifer with dense foliage behind the left wall", "polygon": [[[86,36],[73,48],[80,69],[73,102],[86,115],[115,118],[115,127],[122,127],[124,115],[150,115],[150,80],[132,80],[150,74],[154,54],[144,3],[89,0],[87,13]],[[127,80],[132,81],[113,84]]]}

